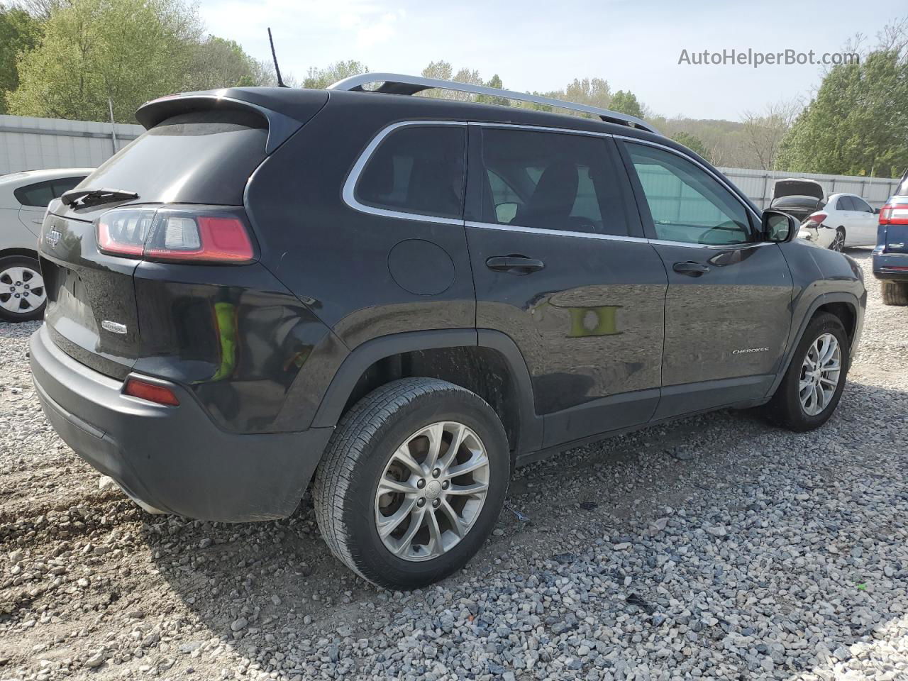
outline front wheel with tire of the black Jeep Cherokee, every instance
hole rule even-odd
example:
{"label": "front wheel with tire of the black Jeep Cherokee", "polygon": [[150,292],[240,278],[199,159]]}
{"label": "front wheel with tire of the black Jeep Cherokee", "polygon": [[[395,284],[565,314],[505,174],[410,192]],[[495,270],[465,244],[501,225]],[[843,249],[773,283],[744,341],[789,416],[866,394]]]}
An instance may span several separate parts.
{"label": "front wheel with tire of the black Jeep Cherokee", "polygon": [[769,418],[795,432],[822,426],[842,398],[849,351],[842,321],[828,312],[817,314],[807,325],[785,378],[766,405]]}

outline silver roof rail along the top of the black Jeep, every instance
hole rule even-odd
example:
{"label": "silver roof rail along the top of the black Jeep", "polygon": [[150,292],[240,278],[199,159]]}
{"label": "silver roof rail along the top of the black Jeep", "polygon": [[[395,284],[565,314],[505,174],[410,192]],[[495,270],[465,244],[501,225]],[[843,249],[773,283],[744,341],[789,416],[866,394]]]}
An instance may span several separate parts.
{"label": "silver roof rail along the top of the black Jeep", "polygon": [[[380,83],[380,86],[374,90],[365,90],[363,85]],[[486,85],[474,85],[469,83],[459,83],[458,81],[443,81],[437,78],[423,78],[418,75],[402,74],[360,74],[351,75],[350,78],[344,78],[337,83],[331,84],[329,90],[347,90],[356,92],[376,92],[384,94],[417,94],[423,90],[439,88],[441,90],[455,90],[461,93],[485,94],[489,97],[499,97],[502,99],[516,99],[520,102],[531,102],[532,104],[544,104],[559,109],[569,109],[570,111],[580,111],[585,114],[594,114],[607,123],[620,123],[629,125],[632,128],[640,128],[648,133],[656,133],[649,123],[640,120],[637,116],[619,114],[617,111],[600,109],[597,106],[588,106],[587,104],[575,104],[573,102],[564,102],[560,99],[551,97],[541,97],[538,94],[517,93],[511,90],[499,90],[497,87],[488,87]]]}

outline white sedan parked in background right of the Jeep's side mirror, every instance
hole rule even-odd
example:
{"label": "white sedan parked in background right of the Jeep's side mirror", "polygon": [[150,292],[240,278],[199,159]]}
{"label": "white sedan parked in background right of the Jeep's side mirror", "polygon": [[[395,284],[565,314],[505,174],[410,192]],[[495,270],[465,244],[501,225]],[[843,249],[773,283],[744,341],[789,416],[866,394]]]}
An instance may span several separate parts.
{"label": "white sedan parked in background right of the Jeep's side mirror", "polygon": [[798,237],[833,251],[845,246],[875,246],[878,222],[879,210],[860,196],[833,194],[820,210],[807,216]]}

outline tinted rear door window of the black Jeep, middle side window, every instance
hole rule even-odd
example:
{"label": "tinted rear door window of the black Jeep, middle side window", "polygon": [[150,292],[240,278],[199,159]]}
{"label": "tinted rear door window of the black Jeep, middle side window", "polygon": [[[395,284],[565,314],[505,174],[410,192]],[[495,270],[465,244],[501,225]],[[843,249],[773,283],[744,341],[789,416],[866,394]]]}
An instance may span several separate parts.
{"label": "tinted rear door window of the black Jeep, middle side window", "polygon": [[627,234],[616,168],[597,137],[486,128],[483,222]]}

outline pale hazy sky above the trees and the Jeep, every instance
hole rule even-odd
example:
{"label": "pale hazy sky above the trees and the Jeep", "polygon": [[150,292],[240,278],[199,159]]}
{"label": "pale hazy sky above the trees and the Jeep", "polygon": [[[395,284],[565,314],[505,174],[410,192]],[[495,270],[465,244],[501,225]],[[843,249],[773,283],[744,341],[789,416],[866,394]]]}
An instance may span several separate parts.
{"label": "pale hazy sky above the trees and the Jeep", "polygon": [[[903,6],[903,5],[902,5]],[[558,3],[522,0],[201,0],[213,35],[270,59],[271,26],[281,71],[302,79],[311,66],[355,59],[373,72],[419,74],[445,60],[455,72],[498,74],[509,90],[563,88],[604,78],[656,114],[741,120],[780,100],[804,98],[819,64],[679,64],[686,50],[838,53],[855,33],[876,34],[900,13],[891,0],[771,2],[670,0]],[[908,11],[902,10],[902,15]]]}

